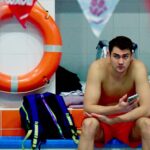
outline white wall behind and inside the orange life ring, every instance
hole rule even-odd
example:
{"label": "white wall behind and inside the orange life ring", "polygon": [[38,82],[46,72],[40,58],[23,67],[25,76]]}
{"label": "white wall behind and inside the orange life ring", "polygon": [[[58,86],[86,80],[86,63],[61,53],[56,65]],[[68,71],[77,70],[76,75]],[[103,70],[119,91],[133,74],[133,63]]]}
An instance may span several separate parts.
{"label": "white wall behind and inside the orange life ring", "polygon": [[[44,8],[55,18],[55,0],[39,0]],[[23,29],[16,18],[0,22],[0,72],[9,75],[24,74],[40,62],[43,55],[43,39],[40,32],[31,23]],[[35,93],[55,92],[55,75],[45,88]],[[32,92],[32,93],[34,93]],[[22,103],[23,94],[0,92],[0,108],[18,108]]]}

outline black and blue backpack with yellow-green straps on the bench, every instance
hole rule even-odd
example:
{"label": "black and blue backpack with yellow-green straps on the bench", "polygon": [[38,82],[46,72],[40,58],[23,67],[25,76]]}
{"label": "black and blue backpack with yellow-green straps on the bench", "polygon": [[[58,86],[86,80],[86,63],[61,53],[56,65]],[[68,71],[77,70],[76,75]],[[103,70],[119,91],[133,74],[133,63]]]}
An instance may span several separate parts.
{"label": "black and blue backpack with yellow-green straps on the bench", "polygon": [[32,149],[40,149],[46,139],[73,139],[78,143],[77,129],[62,96],[49,92],[24,96],[19,111],[26,132],[23,149],[28,138]]}

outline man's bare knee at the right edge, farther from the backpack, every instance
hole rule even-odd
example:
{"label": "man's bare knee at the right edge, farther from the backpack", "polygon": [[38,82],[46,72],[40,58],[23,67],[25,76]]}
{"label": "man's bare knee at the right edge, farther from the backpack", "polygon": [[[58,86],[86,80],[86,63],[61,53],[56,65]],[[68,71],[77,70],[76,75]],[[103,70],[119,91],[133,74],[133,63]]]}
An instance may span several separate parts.
{"label": "man's bare knee at the right edge, farther from the backpack", "polygon": [[141,134],[150,135],[150,118],[142,117],[136,121],[136,125],[139,127]]}

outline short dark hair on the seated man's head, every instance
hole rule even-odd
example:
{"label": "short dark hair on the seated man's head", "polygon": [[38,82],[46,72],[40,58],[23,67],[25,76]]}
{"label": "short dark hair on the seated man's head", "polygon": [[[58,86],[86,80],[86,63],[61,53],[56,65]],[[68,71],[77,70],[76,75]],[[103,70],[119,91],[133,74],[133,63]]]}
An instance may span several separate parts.
{"label": "short dark hair on the seated man's head", "polygon": [[109,42],[109,52],[111,54],[114,47],[118,47],[121,50],[129,49],[132,53],[133,42],[130,38],[125,36],[117,36]]}

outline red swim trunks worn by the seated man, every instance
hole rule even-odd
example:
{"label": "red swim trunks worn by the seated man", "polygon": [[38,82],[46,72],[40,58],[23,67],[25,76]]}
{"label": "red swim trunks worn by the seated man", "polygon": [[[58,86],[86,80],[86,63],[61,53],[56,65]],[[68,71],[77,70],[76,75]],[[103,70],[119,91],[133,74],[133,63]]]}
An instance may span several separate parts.
{"label": "red swim trunks worn by the seated man", "polygon": [[131,141],[129,139],[129,135],[131,133],[132,128],[135,126],[135,122],[123,122],[113,125],[108,125],[106,123],[101,122],[100,125],[104,132],[104,143],[95,143],[96,147],[103,147],[113,138],[118,139],[119,141],[129,145],[132,148],[135,148],[139,144],[141,144],[140,140]]}

